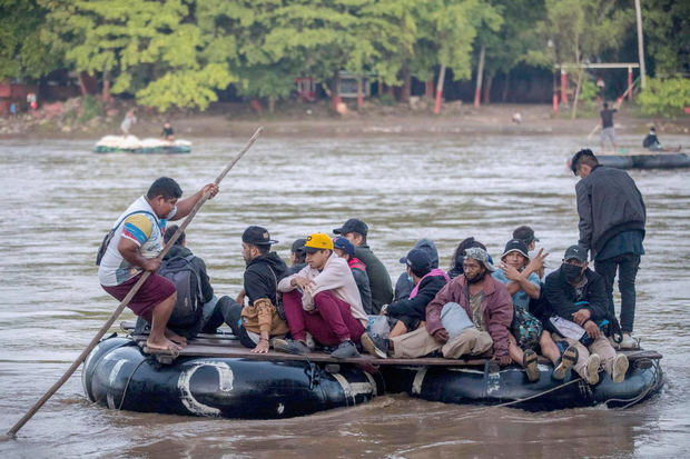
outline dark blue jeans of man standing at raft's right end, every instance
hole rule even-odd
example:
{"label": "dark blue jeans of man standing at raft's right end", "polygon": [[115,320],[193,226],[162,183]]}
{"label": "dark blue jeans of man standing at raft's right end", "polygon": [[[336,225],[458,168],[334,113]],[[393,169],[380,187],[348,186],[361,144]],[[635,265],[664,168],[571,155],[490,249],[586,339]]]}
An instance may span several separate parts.
{"label": "dark blue jeans of man standing at raft's right end", "polygon": [[604,278],[609,296],[609,311],[615,317],[613,306],[613,280],[618,270],[618,289],[621,292],[621,329],[632,332],[634,322],[635,290],[634,279],[640,268],[640,256],[623,253],[608,260],[594,260],[594,271]]}

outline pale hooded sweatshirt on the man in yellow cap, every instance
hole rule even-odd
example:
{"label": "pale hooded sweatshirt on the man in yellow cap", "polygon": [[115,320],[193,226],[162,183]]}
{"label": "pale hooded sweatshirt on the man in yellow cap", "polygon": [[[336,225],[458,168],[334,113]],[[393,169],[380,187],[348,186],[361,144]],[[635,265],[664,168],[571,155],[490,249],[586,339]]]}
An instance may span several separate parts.
{"label": "pale hooded sweatshirt on the man in yellow cap", "polygon": [[314,297],[317,293],[329,290],[337,298],[349,305],[352,316],[359,320],[363,327],[367,326],[368,319],[362,307],[359,289],[349,266],[347,266],[347,261],[335,253],[331,253],[323,270],[319,271],[307,265],[296,275],[287,276],[280,280],[278,282],[278,290],[282,292],[295,290],[295,287],[290,286],[290,281],[296,276],[307,278],[314,282],[312,292],[304,291],[302,293],[302,307],[305,311],[313,311],[315,309]]}

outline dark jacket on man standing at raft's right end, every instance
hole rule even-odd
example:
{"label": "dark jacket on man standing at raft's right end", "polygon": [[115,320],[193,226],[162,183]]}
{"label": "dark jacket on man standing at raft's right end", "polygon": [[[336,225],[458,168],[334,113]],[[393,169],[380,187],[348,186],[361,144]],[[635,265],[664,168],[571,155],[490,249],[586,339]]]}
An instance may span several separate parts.
{"label": "dark jacket on man standing at raft's right end", "polygon": [[613,236],[641,230],[647,209],[642,193],[622,170],[597,166],[575,186],[580,214],[579,245],[591,250],[592,259]]}

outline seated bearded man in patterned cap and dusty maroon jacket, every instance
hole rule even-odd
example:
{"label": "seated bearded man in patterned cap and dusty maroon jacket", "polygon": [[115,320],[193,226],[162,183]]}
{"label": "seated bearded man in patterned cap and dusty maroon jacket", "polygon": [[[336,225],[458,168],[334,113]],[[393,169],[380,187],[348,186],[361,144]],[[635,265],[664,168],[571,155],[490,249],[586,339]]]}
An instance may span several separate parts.
{"label": "seated bearded man in patterned cap and dusty maroon jacket", "polygon": [[442,288],[426,307],[426,326],[395,341],[393,356],[415,358],[441,349],[446,359],[482,356],[509,365],[513,302],[505,286],[486,273],[495,268],[484,249],[465,250],[463,275]]}

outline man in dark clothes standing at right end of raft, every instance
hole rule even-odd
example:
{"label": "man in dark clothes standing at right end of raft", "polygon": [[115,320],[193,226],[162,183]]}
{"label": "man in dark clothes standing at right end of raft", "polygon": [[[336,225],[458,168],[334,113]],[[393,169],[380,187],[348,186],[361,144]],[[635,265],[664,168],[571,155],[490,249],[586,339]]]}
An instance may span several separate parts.
{"label": "man in dark clothes standing at right end of raft", "polygon": [[631,337],[635,309],[634,281],[640,256],[644,255],[642,240],[647,220],[642,193],[627,172],[600,166],[592,150],[578,151],[571,168],[582,179],[575,186],[580,216],[579,245],[591,250],[594,271],[604,278],[611,317],[615,317],[613,280],[618,270],[623,331],[621,348],[634,348],[637,342]]}

